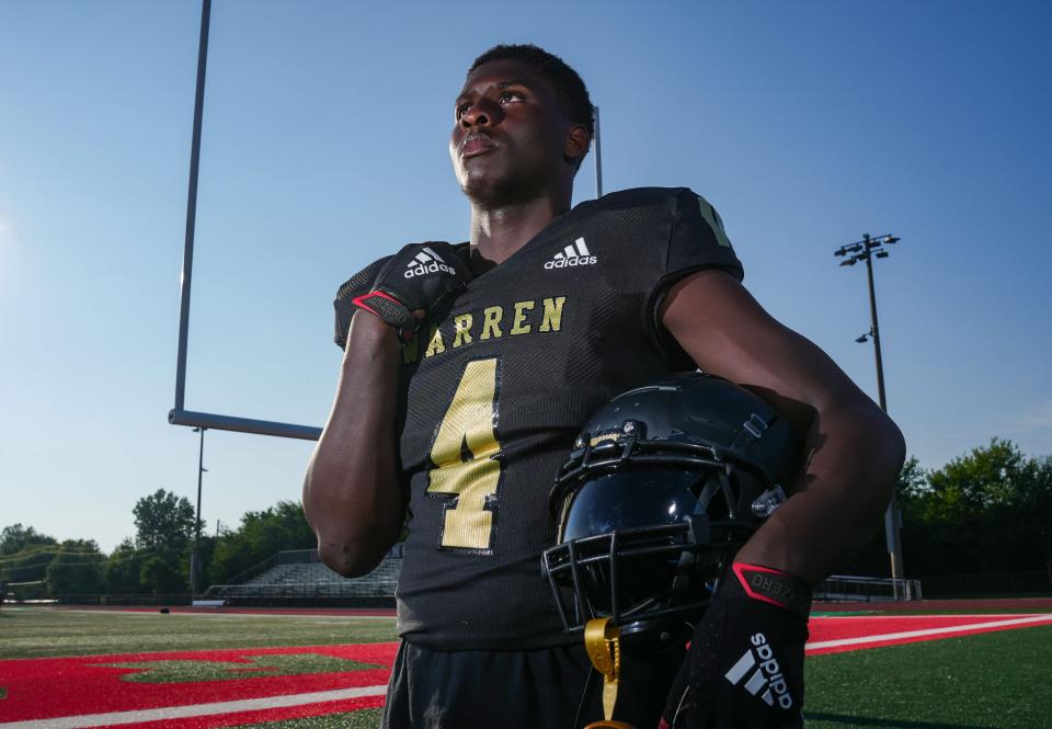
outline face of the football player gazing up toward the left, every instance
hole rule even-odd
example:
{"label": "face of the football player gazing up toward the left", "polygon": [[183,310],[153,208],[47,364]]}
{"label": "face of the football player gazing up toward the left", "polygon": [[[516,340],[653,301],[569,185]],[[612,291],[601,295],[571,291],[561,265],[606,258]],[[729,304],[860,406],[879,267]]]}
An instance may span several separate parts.
{"label": "face of the football player gazing up toward the left", "polygon": [[536,196],[568,163],[570,124],[551,84],[518,60],[474,69],[454,104],[449,156],[464,192],[485,206]]}

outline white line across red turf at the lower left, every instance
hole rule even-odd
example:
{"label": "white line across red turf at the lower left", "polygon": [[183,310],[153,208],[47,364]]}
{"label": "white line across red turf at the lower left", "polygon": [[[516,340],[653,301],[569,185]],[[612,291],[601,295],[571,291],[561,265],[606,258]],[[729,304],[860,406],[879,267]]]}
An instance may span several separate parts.
{"label": "white line across red turf at the lower left", "polygon": [[110,727],[139,721],[159,721],[162,719],[185,719],[188,717],[235,714],[261,709],[284,708],[336,702],[359,696],[382,696],[387,686],[359,686],[338,691],[318,691],[312,694],[293,694],[267,696],[265,698],[244,698],[237,702],[216,702],[214,704],[190,704],[187,706],[167,706],[159,709],[133,711],[111,711],[110,714],[82,714],[80,716],[60,716],[52,719],[32,719],[30,721],[9,721],[0,724],[3,729],[84,729],[87,727]]}

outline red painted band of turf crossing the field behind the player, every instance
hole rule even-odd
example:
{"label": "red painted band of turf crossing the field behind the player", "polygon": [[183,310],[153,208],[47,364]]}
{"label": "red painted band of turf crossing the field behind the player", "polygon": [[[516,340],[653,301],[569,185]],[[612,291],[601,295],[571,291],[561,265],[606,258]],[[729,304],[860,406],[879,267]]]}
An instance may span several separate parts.
{"label": "red painted band of turf crossing the field behind the player", "polygon": [[[871,607],[871,606],[870,606]],[[345,614],[345,612],[341,612]],[[878,646],[951,638],[987,630],[1004,630],[1026,625],[987,626],[986,624],[1019,618],[1019,615],[894,615],[812,617],[809,654],[858,650]],[[1040,624],[1052,625],[1052,615],[1040,618]],[[1027,624],[1027,625],[1032,625]],[[927,636],[895,634],[916,630],[962,627],[953,633]],[[871,636],[881,639],[870,642],[815,647],[832,640],[857,641]],[[188,706],[215,702],[231,702],[271,696],[291,696],[320,691],[345,690],[354,686],[380,686],[387,682],[397,643],[354,646],[315,646],[256,648],[243,650],[175,651],[164,653],[125,653],[76,658],[15,659],[0,661],[0,687],[7,697],[0,700],[0,729],[8,721],[48,719],[112,711],[130,711],[169,706]],[[373,663],[382,668],[311,673],[300,675],[266,675],[245,660],[253,656],[313,653]],[[232,665],[245,664],[252,675],[225,681],[181,683],[137,683],[122,679],[139,669],[113,668],[113,663],[155,662],[165,660],[221,661]],[[247,672],[248,673],[248,672]],[[239,711],[219,716],[202,716],[163,721],[123,725],[125,727],[205,729],[252,724],[263,720],[318,716],[382,705],[382,696],[330,700],[286,708]],[[103,726],[103,725],[93,725]]]}

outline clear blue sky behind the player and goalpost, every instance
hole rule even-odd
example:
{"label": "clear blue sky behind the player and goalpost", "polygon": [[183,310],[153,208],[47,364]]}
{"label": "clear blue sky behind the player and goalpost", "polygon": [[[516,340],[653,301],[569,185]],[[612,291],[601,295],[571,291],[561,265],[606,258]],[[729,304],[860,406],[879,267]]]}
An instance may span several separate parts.
{"label": "clear blue sky behind the player and goalpost", "polygon": [[[517,9],[516,9],[517,8]],[[1052,453],[1052,11],[1043,2],[215,0],[186,407],[320,425],[331,299],[404,242],[464,240],[446,151],[499,42],[563,56],[602,110],[604,187],[687,185],[745,283],[889,409],[926,467]],[[0,526],[110,549],[196,492],[172,407],[199,3],[0,5]],[[591,163],[575,200],[594,194]],[[209,431],[203,516],[298,499],[312,444]]]}

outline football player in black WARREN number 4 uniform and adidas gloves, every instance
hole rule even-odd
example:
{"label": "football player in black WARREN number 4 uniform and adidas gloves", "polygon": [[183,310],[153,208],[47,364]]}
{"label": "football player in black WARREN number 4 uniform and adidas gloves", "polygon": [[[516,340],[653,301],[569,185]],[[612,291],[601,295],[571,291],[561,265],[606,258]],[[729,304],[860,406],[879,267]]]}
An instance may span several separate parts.
{"label": "football player in black WARREN number 4 uniform and adidas gloves", "polygon": [[[687,660],[626,665],[615,718],[645,729],[663,711],[676,727],[782,726],[785,714],[742,714],[745,700],[724,691],[718,667],[762,634],[764,654],[802,675],[807,589],[878,523],[901,434],[742,287],[704,197],[649,187],[571,209],[594,122],[584,83],[561,59],[535,46],[491,48],[451,114],[470,240],[405,246],[340,288],[345,353],[304,486],[321,558],[344,576],[370,571],[409,519],[384,726],[599,718],[588,657],[562,629],[538,569],[554,539],[549,490],[598,406],[696,367],[794,413],[810,460],[736,555],[744,582],[727,582]],[[766,586],[750,586],[755,573]],[[802,677],[787,691],[799,718]]]}

